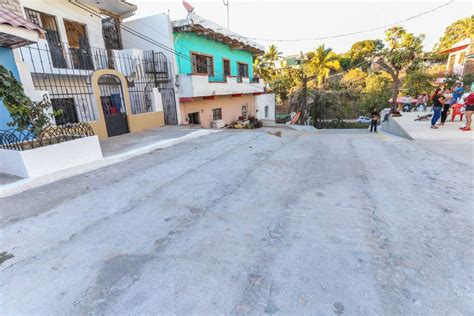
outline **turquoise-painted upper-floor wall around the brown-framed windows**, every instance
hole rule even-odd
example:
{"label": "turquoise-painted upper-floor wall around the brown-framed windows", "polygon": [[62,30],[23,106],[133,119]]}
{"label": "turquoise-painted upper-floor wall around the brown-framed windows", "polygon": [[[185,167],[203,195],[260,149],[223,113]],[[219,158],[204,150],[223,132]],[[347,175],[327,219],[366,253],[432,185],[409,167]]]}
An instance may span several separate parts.
{"label": "turquoise-painted upper-floor wall around the brown-framed windows", "polygon": [[[176,50],[176,62],[180,74],[191,74],[191,52],[212,55],[214,57],[214,76],[210,81],[224,81],[224,69],[222,59],[230,60],[230,72],[232,76],[238,75],[237,62],[248,64],[249,77],[253,77],[253,55],[245,50],[233,50],[224,43],[210,40],[204,36],[198,36],[192,32],[175,32],[174,49]],[[183,58],[180,54],[186,56]]]}

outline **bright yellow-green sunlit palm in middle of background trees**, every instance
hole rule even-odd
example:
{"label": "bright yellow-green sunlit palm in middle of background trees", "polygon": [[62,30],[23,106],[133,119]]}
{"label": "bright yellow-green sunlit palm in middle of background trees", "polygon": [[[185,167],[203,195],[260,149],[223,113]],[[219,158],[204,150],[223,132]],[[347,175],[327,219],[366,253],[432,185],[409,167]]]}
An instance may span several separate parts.
{"label": "bright yellow-green sunlit palm in middle of background trees", "polygon": [[318,88],[322,88],[331,71],[341,69],[339,57],[331,48],[326,48],[324,45],[316,48],[314,52],[308,54],[309,56],[311,56],[308,65],[309,72],[318,79]]}

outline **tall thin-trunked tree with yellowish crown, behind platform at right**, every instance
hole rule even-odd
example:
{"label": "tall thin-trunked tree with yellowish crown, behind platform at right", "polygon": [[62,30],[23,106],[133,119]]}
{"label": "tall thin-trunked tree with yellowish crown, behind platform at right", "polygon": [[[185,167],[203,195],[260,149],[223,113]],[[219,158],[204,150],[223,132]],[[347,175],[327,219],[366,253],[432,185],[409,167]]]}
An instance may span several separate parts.
{"label": "tall thin-trunked tree with yellowish crown, behind platform at right", "polygon": [[400,74],[418,64],[422,55],[424,35],[415,36],[403,27],[395,26],[385,31],[386,45],[373,54],[372,62],[378,64],[393,80],[392,107],[396,107],[401,81]]}

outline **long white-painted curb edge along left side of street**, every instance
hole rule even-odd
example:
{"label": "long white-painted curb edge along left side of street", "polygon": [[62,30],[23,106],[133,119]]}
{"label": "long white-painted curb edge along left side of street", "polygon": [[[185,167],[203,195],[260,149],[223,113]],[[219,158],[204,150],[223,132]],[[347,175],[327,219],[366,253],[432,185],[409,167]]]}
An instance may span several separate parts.
{"label": "long white-painted curb edge along left side of street", "polygon": [[79,165],[76,167],[60,170],[54,173],[41,175],[34,178],[26,178],[26,179],[18,180],[9,184],[4,184],[0,186],[0,198],[15,195],[29,189],[37,188],[49,183],[53,183],[59,180],[70,178],[70,177],[83,174],[86,172],[90,172],[96,169],[100,169],[103,167],[107,167],[107,166],[128,160],[136,156],[150,153],[157,149],[167,148],[173,145],[183,143],[190,139],[194,139],[194,138],[198,138],[198,137],[206,136],[206,135],[211,135],[218,132],[221,132],[221,130],[209,130],[209,129],[199,130],[199,131],[191,132],[181,137],[163,140],[155,144],[150,144],[147,146],[143,146],[141,148],[133,149],[133,150],[126,151],[126,152],[116,154],[116,155],[112,155],[110,157],[105,157],[100,160],[89,162],[89,163]]}

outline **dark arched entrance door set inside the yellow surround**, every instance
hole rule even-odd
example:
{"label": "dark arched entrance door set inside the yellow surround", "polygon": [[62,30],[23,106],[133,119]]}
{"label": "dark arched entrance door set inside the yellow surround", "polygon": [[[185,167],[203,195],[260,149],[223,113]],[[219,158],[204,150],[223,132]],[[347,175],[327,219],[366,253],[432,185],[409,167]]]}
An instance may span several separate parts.
{"label": "dark arched entrance door set inside the yellow surround", "polygon": [[107,135],[111,137],[128,133],[127,108],[120,79],[114,75],[102,75],[98,79],[98,86]]}

